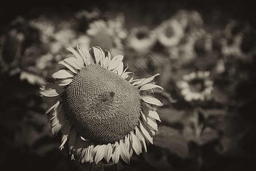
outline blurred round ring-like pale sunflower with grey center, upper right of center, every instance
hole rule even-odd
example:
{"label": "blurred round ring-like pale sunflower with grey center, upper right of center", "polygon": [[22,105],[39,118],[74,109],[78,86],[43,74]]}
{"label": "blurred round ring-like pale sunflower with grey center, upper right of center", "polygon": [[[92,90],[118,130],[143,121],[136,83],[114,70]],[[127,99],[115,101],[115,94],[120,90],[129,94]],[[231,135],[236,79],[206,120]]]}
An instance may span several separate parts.
{"label": "blurred round ring-like pale sunflower with grey center, upper right of center", "polygon": [[176,19],[169,19],[157,28],[157,38],[164,47],[176,46],[184,36],[181,23]]}

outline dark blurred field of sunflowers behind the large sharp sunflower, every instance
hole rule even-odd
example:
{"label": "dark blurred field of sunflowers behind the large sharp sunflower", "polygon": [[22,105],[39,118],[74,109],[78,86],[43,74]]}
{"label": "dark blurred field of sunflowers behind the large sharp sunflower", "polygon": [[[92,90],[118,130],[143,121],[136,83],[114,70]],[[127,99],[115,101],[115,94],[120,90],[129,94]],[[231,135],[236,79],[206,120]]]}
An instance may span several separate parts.
{"label": "dark blurred field of sunflowers behind the large sharp sunflower", "polygon": [[59,150],[61,135],[51,135],[39,96],[77,44],[124,55],[138,78],[161,74],[154,145],[125,170],[253,170],[254,8],[251,1],[5,2],[0,170],[82,170],[68,148]]}

